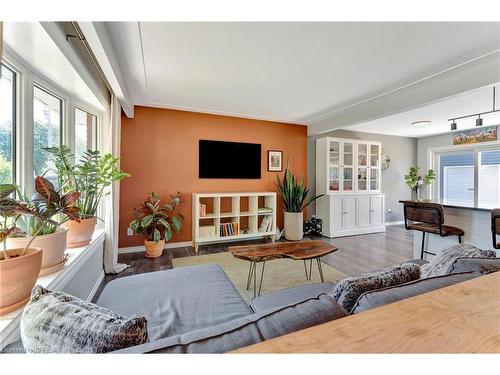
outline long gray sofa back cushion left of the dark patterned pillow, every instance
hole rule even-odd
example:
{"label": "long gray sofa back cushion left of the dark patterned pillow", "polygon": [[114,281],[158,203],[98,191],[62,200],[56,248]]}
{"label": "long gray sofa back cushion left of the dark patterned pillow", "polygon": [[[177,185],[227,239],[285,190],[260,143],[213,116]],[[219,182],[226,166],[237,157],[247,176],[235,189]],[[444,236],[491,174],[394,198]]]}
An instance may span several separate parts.
{"label": "long gray sofa back cushion left of the dark patterned pillow", "polygon": [[344,316],[345,310],[332,297],[321,294],[116,353],[225,353]]}

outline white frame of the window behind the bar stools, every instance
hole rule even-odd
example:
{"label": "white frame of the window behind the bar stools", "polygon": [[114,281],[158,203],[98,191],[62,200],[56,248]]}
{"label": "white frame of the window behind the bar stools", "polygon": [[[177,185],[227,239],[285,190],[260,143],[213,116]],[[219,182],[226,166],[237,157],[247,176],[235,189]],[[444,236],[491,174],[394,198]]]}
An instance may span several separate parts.
{"label": "white frame of the window behind the bar stools", "polygon": [[485,143],[473,143],[467,145],[453,145],[453,146],[442,146],[433,147],[428,149],[428,169],[433,169],[436,173],[436,179],[430,185],[430,197],[432,200],[441,202],[443,197],[441,197],[440,184],[442,176],[439,162],[442,155],[452,155],[460,154],[464,152],[469,152],[474,154],[474,206],[464,206],[477,209],[483,209],[479,207],[479,166],[481,152],[485,151],[499,151],[500,150],[500,140],[485,142]]}

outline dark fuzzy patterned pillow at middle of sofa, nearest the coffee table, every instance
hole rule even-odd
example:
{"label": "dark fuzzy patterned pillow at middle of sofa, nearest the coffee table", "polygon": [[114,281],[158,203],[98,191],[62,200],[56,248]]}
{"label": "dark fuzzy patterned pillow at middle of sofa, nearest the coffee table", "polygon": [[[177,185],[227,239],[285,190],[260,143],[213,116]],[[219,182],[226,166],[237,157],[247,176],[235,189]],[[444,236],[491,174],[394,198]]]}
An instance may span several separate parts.
{"label": "dark fuzzy patterned pillow at middle of sofa, nearest the coffee table", "polygon": [[351,312],[359,296],[363,293],[404,284],[419,278],[420,266],[414,263],[405,263],[382,271],[342,279],[335,284],[331,295],[346,311]]}

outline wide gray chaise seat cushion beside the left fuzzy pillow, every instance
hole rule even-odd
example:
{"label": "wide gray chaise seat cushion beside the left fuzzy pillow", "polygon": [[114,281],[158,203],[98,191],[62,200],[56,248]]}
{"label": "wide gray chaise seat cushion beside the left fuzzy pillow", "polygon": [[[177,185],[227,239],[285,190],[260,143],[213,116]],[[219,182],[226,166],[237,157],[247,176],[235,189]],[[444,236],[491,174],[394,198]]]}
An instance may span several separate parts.
{"label": "wide gray chaise seat cushion beside the left fuzzy pillow", "polygon": [[151,341],[252,313],[217,264],[115,279],[97,304],[119,314],[145,316]]}

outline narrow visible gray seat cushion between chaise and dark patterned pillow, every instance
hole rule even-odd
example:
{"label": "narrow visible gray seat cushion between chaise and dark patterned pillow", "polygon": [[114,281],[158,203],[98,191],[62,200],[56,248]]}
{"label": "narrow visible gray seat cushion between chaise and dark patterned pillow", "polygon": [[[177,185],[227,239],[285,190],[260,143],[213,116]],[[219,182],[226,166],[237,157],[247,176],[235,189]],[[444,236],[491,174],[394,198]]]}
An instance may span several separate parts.
{"label": "narrow visible gray seat cushion between chaise and dark patterned pillow", "polygon": [[283,289],[254,298],[250,303],[250,307],[253,311],[259,312],[275,307],[287,306],[312,297],[317,297],[322,293],[331,292],[333,287],[333,283],[318,283]]}

